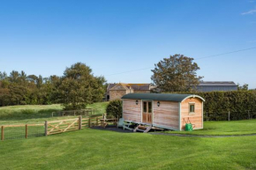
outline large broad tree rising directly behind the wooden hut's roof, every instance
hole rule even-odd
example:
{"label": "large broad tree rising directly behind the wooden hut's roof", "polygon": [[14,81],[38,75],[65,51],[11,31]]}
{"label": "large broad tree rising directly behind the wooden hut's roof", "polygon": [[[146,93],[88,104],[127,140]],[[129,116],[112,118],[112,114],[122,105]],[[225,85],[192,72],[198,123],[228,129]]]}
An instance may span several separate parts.
{"label": "large broad tree rising directly behind the wooden hut's roof", "polygon": [[154,64],[151,79],[162,92],[189,92],[200,84],[196,71],[200,70],[193,58],[184,55],[170,55]]}

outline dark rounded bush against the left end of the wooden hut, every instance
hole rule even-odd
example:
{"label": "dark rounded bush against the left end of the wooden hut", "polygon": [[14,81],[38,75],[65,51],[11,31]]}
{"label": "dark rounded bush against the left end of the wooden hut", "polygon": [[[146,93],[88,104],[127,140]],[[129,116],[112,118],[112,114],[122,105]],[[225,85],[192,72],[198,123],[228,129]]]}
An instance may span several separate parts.
{"label": "dark rounded bush against the left end of the wooden hut", "polygon": [[112,100],[109,101],[109,104],[106,108],[107,117],[122,117],[122,110],[123,110],[123,103],[122,100]]}

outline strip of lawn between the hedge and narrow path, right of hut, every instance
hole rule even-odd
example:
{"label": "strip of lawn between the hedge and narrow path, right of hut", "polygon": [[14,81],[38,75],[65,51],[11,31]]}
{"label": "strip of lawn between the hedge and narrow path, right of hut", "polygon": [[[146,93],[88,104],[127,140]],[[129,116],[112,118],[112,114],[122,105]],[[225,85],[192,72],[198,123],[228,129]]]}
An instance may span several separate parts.
{"label": "strip of lawn between the hedge and narrow path, right of hut", "polygon": [[256,134],[256,120],[204,122],[204,129],[193,131],[168,131],[167,133],[189,135],[245,135]]}

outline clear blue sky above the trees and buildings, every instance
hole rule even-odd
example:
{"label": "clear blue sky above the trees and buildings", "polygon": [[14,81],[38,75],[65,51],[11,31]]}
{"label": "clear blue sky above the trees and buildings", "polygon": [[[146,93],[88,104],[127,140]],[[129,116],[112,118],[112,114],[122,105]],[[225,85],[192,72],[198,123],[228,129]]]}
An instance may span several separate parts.
{"label": "clear blue sky above the trees and buildings", "polygon": [[[0,0],[0,70],[63,75],[89,65],[108,82],[150,83],[162,58],[256,47],[256,0]],[[196,60],[205,81],[256,88],[256,49]],[[137,70],[124,74],[116,74]],[[114,75],[113,75],[114,74]]]}

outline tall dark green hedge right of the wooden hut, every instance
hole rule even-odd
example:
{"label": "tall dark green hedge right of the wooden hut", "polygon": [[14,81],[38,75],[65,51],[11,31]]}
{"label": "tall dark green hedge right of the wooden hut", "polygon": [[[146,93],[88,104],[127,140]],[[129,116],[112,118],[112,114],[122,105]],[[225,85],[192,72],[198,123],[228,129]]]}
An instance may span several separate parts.
{"label": "tall dark green hedge right of the wooden hut", "polygon": [[[188,92],[178,92],[188,93]],[[204,117],[211,121],[256,118],[256,91],[194,92],[206,100]],[[248,113],[249,111],[249,113]]]}

